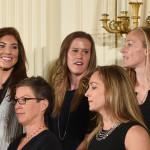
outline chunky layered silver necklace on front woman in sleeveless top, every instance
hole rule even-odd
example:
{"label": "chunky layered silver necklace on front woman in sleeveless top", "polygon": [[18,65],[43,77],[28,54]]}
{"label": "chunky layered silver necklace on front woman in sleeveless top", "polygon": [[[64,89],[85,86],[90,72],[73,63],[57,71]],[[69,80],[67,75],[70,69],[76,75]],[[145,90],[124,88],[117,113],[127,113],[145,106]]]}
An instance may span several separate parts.
{"label": "chunky layered silver necklace on front woman in sleeveless top", "polygon": [[103,129],[101,129],[96,134],[96,140],[97,141],[105,140],[106,137],[108,137],[119,125],[120,125],[120,123],[114,125],[112,128],[110,128],[109,130],[105,130],[105,131]]}

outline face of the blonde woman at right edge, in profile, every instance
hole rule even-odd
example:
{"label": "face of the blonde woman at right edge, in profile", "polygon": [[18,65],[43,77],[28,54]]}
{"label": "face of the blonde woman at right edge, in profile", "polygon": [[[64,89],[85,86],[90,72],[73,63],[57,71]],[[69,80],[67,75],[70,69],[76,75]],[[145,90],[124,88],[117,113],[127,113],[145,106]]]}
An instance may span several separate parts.
{"label": "face of the blonde woman at right edge, in profile", "polygon": [[143,34],[137,30],[132,31],[126,38],[126,44],[121,49],[123,66],[136,69],[146,64],[146,48],[143,46]]}

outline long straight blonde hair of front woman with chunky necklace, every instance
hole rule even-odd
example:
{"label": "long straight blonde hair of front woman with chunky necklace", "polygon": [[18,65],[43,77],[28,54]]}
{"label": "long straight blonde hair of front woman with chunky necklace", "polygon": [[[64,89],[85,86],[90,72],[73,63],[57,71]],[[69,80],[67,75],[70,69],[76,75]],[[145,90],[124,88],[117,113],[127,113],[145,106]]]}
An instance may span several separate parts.
{"label": "long straight blonde hair of front woman with chunky necklace", "polygon": [[[120,123],[137,121],[146,128],[134,92],[133,83],[125,69],[117,65],[97,67],[95,72],[105,86],[106,108],[112,119]],[[88,143],[103,127],[103,119],[97,115],[98,126],[88,137]]]}

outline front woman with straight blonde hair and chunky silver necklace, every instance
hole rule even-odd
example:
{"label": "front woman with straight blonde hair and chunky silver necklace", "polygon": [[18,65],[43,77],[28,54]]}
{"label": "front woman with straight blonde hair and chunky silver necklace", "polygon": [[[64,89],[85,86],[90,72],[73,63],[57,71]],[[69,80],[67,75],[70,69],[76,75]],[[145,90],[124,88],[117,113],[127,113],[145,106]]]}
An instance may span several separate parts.
{"label": "front woman with straight blonde hair and chunky silver necklace", "polygon": [[85,96],[90,111],[98,113],[98,126],[88,137],[89,150],[150,149],[134,88],[122,67],[97,67]]}

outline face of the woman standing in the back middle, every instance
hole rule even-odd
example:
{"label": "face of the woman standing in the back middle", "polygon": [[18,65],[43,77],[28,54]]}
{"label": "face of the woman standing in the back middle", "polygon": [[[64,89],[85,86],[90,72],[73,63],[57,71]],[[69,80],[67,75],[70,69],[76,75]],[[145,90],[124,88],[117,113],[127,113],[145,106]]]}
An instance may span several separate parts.
{"label": "face of the woman standing in the back middle", "polygon": [[67,65],[72,75],[83,75],[91,57],[91,42],[85,38],[76,38],[67,54]]}

